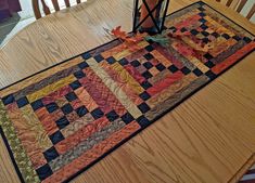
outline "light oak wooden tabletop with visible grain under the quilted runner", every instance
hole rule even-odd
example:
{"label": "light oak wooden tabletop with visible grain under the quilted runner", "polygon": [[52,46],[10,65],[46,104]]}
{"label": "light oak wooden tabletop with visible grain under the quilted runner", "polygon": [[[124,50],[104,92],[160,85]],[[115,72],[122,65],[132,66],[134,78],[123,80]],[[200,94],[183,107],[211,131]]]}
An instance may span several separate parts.
{"label": "light oak wooden tabletop with visible grain under the quilted runner", "polygon": [[[169,12],[194,1],[173,0]],[[255,26],[206,0],[255,34]],[[110,41],[103,27],[131,30],[132,0],[90,0],[43,17],[0,50],[0,87]],[[235,182],[255,161],[255,53],[73,182]],[[0,140],[0,182],[18,182]]]}

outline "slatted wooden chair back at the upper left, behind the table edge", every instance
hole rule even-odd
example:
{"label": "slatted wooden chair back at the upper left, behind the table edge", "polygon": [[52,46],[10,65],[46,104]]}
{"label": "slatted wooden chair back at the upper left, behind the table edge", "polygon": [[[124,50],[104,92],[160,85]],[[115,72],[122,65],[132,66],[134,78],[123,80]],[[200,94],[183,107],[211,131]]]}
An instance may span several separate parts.
{"label": "slatted wooden chair back at the upper left, behind the table edge", "polygon": [[[37,19],[39,19],[41,17],[39,1],[41,2],[42,10],[43,10],[44,14],[46,15],[51,14],[51,11],[50,11],[49,6],[46,4],[44,0],[31,0],[34,13],[35,13],[35,16]],[[69,0],[64,0],[64,1],[65,1],[65,6],[69,8],[71,6]],[[51,2],[54,6],[54,10],[60,11],[60,4],[59,4],[58,0],[51,0]],[[80,3],[80,0],[76,0],[76,2],[78,4],[78,3]]]}

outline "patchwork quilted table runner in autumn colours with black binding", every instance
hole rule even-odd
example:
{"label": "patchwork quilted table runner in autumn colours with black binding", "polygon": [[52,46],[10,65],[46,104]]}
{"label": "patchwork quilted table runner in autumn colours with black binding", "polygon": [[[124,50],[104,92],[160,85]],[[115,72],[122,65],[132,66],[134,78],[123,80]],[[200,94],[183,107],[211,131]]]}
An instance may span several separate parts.
{"label": "patchwork quilted table runner in autumn colours with black binding", "polygon": [[163,35],[113,40],[0,91],[0,132],[22,182],[67,182],[254,51],[203,2]]}

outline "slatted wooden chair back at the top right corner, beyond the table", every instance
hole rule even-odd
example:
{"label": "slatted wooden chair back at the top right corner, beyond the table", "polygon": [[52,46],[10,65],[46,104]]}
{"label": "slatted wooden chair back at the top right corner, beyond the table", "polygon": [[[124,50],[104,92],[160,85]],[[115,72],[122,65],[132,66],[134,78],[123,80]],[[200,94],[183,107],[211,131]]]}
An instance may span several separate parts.
{"label": "slatted wooden chair back at the top right corner, beyond the table", "polygon": [[[216,0],[218,2],[221,2],[221,0]],[[238,13],[240,13],[244,5],[246,4],[248,0],[227,0],[226,5],[234,9]],[[248,11],[246,18],[251,19],[251,17],[255,14],[255,2],[252,5],[252,9]]]}

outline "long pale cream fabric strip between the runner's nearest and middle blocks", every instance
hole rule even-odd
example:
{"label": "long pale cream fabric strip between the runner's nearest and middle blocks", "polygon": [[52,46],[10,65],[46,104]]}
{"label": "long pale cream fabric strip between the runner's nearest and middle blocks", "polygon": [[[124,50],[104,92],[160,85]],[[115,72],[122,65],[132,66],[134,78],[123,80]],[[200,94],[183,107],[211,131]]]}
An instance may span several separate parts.
{"label": "long pale cream fabric strip between the runner's nearest and middle blocks", "polygon": [[102,79],[104,84],[114,93],[118,101],[126,107],[126,109],[135,117],[138,118],[142,114],[135,105],[126,93],[118,87],[118,84],[107,75],[107,73],[97,63],[94,58],[87,61],[93,71]]}

